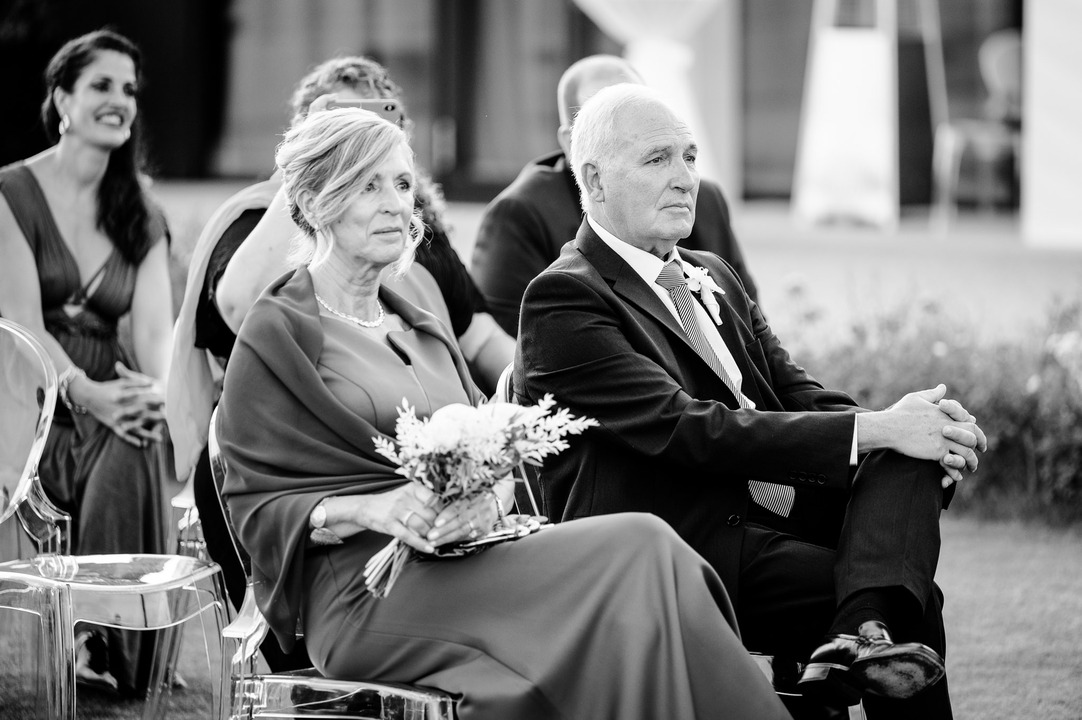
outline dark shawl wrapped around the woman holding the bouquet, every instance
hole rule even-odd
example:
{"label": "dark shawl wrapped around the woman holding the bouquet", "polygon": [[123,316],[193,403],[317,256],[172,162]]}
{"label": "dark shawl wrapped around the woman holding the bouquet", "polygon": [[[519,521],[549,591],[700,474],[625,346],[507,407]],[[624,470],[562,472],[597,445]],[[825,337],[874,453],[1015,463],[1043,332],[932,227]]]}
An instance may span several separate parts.
{"label": "dark shawl wrapped around the woman holding the bouquet", "polygon": [[[447,345],[459,381],[477,402],[445,326],[386,287],[380,299],[415,331]],[[382,433],[322,382],[316,367],[322,344],[312,276],[300,269],[272,284],[245,318],[219,403],[224,495],[251,554],[260,610],[287,651],[300,613],[312,510],[331,495],[378,493],[406,482],[375,453],[372,437]]]}

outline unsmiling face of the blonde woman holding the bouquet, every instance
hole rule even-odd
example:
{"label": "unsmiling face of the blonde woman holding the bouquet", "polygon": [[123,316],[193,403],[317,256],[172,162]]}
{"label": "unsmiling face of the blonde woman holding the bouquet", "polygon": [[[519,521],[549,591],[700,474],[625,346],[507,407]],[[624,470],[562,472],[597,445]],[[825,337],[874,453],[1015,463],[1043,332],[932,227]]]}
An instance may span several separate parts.
{"label": "unsmiling face of the blonde woman holding the bouquet", "polygon": [[332,252],[353,265],[390,265],[406,248],[412,214],[413,158],[401,144],[375,167],[368,184],[331,223]]}

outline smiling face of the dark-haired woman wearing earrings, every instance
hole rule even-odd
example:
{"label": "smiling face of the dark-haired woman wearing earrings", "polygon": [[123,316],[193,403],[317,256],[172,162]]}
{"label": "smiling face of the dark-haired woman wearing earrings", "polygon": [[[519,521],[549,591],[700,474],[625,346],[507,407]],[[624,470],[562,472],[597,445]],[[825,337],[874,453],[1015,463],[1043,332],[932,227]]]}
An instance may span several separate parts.
{"label": "smiling face of the dark-haired woman wearing earrings", "polygon": [[131,136],[138,108],[135,63],[123,53],[100,51],[82,68],[71,92],[58,92],[56,109],[67,115],[68,133],[106,148],[123,145]]}

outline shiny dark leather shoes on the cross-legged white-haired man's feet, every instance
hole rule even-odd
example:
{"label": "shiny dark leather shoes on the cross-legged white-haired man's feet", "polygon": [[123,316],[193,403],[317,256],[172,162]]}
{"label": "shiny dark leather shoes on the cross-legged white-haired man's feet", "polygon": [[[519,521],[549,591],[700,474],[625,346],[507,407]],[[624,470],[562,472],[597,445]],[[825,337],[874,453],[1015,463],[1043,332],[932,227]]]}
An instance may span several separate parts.
{"label": "shiny dark leather shoes on the cross-legged white-haired man's feet", "polygon": [[797,686],[824,701],[855,705],[865,694],[912,697],[944,677],[939,655],[919,642],[895,643],[882,623],[827,639],[808,659]]}

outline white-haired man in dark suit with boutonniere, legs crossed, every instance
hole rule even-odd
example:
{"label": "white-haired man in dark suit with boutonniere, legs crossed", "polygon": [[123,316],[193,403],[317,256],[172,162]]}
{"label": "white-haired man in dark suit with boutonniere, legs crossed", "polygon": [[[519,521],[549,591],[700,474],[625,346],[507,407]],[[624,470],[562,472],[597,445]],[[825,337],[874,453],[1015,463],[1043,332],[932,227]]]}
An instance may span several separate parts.
{"label": "white-haired man in dark suit with boutonniere, legs crossed", "polygon": [[808,660],[807,693],[949,718],[939,514],[985,435],[942,385],[869,411],[796,365],[730,265],[676,247],[695,159],[642,86],[576,119],[586,218],[526,290],[514,388],[601,427],[546,459],[546,513],[658,514],[718,571],[750,649]]}

